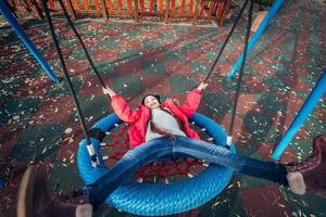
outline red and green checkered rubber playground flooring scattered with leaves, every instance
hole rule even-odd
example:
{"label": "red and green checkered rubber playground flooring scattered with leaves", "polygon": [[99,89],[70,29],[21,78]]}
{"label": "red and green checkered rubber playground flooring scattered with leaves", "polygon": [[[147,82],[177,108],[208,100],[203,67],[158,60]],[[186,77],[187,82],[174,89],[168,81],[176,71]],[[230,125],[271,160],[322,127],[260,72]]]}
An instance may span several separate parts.
{"label": "red and green checkered rubber playground flooring scattered with leaves", "polygon": [[[326,68],[326,4],[287,1],[248,56],[234,129],[238,153],[269,159]],[[22,20],[24,29],[58,75],[60,62],[46,22]],[[63,20],[54,20],[57,35],[88,127],[112,112],[109,99],[91,71],[77,39]],[[82,20],[75,22],[104,80],[130,104],[146,93],[184,100],[212,66],[231,27],[164,25]],[[228,128],[236,79],[225,80],[241,52],[242,18],[227,44],[199,108]],[[64,82],[52,84],[8,26],[0,33],[0,157],[1,161],[51,162],[50,184],[67,193],[83,182],[76,151],[83,132]],[[281,156],[302,161],[312,139],[326,133],[325,95]],[[5,165],[1,165],[2,167]],[[11,188],[11,190],[8,190]],[[10,216],[16,187],[0,189],[1,216]],[[5,192],[12,192],[7,193]],[[236,174],[220,195],[199,208],[176,216],[326,216],[326,200],[298,196],[268,181]],[[134,216],[105,207],[96,216]]]}

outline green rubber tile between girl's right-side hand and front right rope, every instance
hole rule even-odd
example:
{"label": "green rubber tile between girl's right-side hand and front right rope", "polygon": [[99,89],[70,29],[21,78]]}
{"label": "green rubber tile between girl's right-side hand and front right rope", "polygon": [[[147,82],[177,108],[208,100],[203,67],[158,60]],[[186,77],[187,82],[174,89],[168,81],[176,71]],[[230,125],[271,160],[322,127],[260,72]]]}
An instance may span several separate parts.
{"label": "green rubber tile between girl's right-side hand and front right rope", "polygon": [[227,99],[225,93],[218,92],[204,93],[201,104],[208,108],[210,114],[215,114],[218,118],[222,118],[230,110],[231,102]]}

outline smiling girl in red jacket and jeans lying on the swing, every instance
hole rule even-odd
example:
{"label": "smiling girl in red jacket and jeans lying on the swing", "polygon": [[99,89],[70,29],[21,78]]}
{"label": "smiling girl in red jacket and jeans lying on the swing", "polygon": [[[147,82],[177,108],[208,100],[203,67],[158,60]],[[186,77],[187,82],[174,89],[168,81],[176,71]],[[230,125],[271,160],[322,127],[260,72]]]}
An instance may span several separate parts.
{"label": "smiling girl in red jacket and jeans lying on the swing", "polygon": [[129,124],[130,150],[91,184],[93,188],[89,192],[89,199],[92,204],[101,204],[140,166],[160,157],[178,155],[192,156],[230,167],[244,175],[274,181],[289,187],[297,194],[311,191],[326,195],[326,137],[314,140],[311,157],[301,164],[291,165],[243,157],[221,145],[200,140],[190,128],[188,118],[200,104],[201,91],[206,86],[200,84],[190,91],[183,105],[176,104],[173,98],[161,103],[159,95],[148,94],[138,105],[138,110],[131,110],[125,99],[112,89],[103,89],[110,95],[116,115]]}

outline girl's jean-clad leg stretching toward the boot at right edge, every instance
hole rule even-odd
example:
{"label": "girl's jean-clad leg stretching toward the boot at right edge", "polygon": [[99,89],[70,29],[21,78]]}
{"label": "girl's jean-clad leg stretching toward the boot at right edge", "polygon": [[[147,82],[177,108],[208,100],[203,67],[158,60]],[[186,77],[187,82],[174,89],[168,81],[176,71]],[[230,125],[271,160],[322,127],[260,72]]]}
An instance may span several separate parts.
{"label": "girl's jean-clad leg stretching toward the boot at right edge", "polygon": [[177,137],[174,152],[187,154],[210,163],[230,167],[244,175],[288,186],[287,169],[280,164],[240,156],[229,150],[198,139]]}

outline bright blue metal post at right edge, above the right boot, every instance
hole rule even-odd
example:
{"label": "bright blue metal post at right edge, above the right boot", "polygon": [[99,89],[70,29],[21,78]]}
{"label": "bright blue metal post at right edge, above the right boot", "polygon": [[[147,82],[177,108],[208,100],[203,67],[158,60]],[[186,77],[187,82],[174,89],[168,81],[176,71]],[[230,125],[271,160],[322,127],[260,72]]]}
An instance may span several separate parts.
{"label": "bright blue metal post at right edge, above the right boot", "polygon": [[318,79],[317,84],[315,85],[314,89],[311,91],[310,95],[305,100],[304,104],[300,108],[298,115],[296,116],[294,120],[292,122],[291,126],[278,143],[277,148],[275,149],[272,157],[274,159],[278,159],[281,153],[286,150],[297,131],[300,129],[301,125],[306,119],[308,115],[312,112],[314,106],[317,104],[319,99],[326,91],[326,69],[324,69],[321,78]]}

